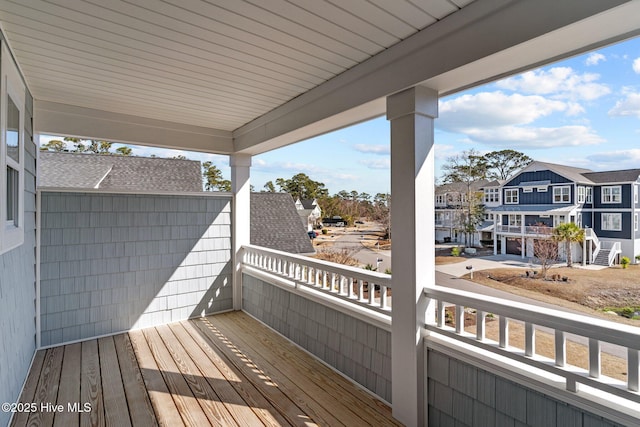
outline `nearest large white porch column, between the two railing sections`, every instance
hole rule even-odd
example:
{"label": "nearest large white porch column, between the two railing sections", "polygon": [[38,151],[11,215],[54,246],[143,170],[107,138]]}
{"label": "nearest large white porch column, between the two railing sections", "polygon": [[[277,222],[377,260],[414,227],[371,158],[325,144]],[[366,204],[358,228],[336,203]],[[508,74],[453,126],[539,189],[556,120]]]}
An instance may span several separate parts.
{"label": "nearest large white porch column, between the two railing sections", "polygon": [[[426,424],[422,329],[426,286],[435,284],[433,126],[438,94],[414,87],[387,98],[391,122],[393,415],[408,426]],[[430,312],[434,313],[433,308]],[[433,316],[433,314],[432,314]]]}

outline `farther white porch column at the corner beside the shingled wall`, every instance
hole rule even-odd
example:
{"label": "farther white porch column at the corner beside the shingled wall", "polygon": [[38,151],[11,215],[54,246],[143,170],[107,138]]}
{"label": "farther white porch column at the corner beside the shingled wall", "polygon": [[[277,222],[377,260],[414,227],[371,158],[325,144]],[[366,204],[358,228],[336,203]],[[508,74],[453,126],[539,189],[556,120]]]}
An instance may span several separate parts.
{"label": "farther white porch column at the corner beside the shingled wall", "polygon": [[242,246],[250,243],[251,190],[249,183],[251,155],[231,156],[231,191],[233,192],[233,308],[242,309]]}

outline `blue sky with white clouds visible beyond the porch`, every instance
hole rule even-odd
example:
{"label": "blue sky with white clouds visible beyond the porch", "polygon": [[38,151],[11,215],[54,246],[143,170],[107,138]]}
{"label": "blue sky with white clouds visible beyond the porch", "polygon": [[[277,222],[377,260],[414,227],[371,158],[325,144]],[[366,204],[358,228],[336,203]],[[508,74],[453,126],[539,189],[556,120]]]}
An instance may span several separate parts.
{"label": "blue sky with white clouds visible beyond the porch", "polygon": [[[596,171],[640,168],[640,38],[442,98],[439,111],[437,170],[472,148],[510,148]],[[331,194],[388,192],[389,150],[389,124],[381,117],[255,156],[251,181],[261,190],[303,172]],[[134,149],[150,154],[211,160],[229,177],[226,156]]]}

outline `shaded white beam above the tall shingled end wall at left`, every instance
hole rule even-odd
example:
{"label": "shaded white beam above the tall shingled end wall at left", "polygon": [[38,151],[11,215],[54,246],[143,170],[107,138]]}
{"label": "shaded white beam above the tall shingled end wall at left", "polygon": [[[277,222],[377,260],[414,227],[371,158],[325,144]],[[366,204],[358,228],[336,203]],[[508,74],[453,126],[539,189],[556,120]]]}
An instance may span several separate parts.
{"label": "shaded white beam above the tall shingled end wall at left", "polygon": [[125,144],[230,154],[231,132],[91,108],[34,101],[34,132]]}

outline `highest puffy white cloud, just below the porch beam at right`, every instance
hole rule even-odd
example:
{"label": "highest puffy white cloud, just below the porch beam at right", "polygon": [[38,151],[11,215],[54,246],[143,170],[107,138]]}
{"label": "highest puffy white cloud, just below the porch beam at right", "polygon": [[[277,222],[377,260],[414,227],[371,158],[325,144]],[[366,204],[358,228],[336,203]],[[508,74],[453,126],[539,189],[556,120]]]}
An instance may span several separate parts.
{"label": "highest puffy white cloud, just below the porch beam at right", "polygon": [[599,74],[578,74],[570,67],[533,70],[496,82],[501,89],[548,95],[554,99],[593,101],[611,93],[604,84],[597,83]]}

